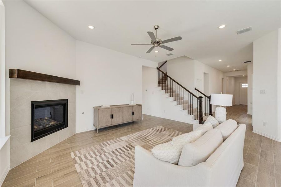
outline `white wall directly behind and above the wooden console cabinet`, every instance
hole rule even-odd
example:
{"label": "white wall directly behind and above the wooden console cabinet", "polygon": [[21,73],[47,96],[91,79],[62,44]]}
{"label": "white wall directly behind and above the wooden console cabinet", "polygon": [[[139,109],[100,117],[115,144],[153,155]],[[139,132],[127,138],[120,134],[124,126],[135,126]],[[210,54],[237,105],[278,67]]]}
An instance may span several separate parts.
{"label": "white wall directly behind and above the wooden console cabinet", "polygon": [[156,69],[156,62],[81,41],[76,42],[76,53],[76,78],[81,80],[76,88],[76,132],[94,129],[94,106],[130,103],[132,93],[135,102],[142,103],[142,66]]}

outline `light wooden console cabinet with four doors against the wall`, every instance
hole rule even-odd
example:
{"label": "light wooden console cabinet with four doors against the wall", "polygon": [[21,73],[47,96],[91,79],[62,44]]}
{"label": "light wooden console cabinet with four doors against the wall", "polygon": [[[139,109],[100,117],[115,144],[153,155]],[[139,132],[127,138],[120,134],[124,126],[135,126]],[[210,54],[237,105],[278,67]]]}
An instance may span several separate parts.
{"label": "light wooden console cabinet with four doors against the wall", "polygon": [[100,128],[141,120],[141,104],[111,105],[107,108],[94,107],[94,127]]}

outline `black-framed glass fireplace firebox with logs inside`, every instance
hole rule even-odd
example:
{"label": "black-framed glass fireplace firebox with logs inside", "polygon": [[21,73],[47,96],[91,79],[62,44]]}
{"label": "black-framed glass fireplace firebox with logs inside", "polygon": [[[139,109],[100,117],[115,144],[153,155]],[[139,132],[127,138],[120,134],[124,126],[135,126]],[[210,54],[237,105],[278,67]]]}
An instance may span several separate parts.
{"label": "black-framed glass fireplace firebox with logs inside", "polygon": [[62,130],[67,125],[68,99],[31,102],[31,141]]}

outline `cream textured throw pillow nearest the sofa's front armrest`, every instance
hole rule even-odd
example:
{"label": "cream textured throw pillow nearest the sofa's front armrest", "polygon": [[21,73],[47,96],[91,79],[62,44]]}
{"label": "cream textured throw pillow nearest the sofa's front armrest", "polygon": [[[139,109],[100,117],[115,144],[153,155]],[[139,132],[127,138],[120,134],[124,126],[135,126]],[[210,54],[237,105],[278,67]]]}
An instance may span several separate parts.
{"label": "cream textured throw pillow nearest the sofa's front armrest", "polygon": [[201,137],[201,134],[201,131],[182,134],[176,138],[173,138],[172,141],[153,147],[151,152],[156,158],[162,161],[177,164],[183,146],[191,141],[196,141],[196,138]]}

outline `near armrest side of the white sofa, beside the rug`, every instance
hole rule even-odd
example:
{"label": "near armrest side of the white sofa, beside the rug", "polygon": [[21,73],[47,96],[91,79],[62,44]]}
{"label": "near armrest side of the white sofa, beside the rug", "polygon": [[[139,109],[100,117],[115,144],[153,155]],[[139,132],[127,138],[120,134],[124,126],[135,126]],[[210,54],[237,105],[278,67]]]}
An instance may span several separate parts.
{"label": "near armrest side of the white sofa, beside the rug", "polygon": [[135,147],[134,186],[207,186],[209,172],[205,163],[178,166],[157,159],[141,146]]}

